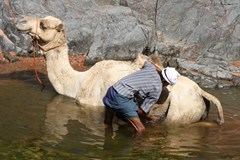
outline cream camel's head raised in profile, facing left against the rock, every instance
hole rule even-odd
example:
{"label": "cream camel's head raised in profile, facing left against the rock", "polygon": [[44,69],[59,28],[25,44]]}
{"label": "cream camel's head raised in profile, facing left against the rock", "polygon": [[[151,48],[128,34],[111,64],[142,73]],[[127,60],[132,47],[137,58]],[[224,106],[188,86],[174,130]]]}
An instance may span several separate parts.
{"label": "cream camel's head raised in profile, facing left against the rock", "polygon": [[40,45],[51,42],[57,33],[64,32],[62,21],[52,16],[20,19],[17,29],[34,37]]}

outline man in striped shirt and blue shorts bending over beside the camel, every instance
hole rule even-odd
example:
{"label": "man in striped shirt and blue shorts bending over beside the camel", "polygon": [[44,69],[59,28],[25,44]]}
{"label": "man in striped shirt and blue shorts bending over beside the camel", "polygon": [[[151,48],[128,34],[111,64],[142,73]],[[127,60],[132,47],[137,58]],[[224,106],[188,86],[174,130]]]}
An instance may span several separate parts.
{"label": "man in striped shirt and blue shorts bending over beside the camel", "polygon": [[[171,67],[157,71],[154,64],[146,61],[141,70],[120,79],[108,89],[103,98],[106,106],[105,127],[112,127],[112,119],[116,113],[117,117],[126,119],[137,133],[142,133],[145,127],[138,114],[147,115],[158,102],[163,84],[175,84],[179,75]],[[136,96],[142,99],[140,106]]]}

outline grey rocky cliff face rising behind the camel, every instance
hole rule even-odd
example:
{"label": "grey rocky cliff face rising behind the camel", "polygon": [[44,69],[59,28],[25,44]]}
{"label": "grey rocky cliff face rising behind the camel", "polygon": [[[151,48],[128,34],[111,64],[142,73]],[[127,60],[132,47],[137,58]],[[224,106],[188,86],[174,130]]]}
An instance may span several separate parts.
{"label": "grey rocky cliff face rising behind the camel", "polygon": [[[89,61],[158,53],[203,87],[240,86],[239,0],[1,0],[5,53],[31,52],[14,19],[52,15],[65,23],[71,54]],[[237,64],[237,65],[236,65]]]}

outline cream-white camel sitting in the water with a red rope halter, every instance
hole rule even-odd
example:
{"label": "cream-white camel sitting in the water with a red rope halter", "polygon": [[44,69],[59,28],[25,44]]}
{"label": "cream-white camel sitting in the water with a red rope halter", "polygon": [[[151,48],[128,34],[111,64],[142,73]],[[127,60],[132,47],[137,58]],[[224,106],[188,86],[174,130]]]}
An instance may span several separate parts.
{"label": "cream-white camel sitting in the water with a red rope halter", "polygon": [[[49,80],[56,91],[92,108],[103,106],[102,98],[108,87],[139,70],[145,61],[141,57],[134,63],[103,60],[85,72],[78,72],[69,63],[67,40],[61,20],[52,16],[23,18],[19,20],[17,28],[37,40],[46,57]],[[192,80],[180,76],[177,83],[168,86],[168,89],[170,94],[166,102],[155,105],[149,114],[159,118],[165,115],[165,122],[188,124],[206,118],[210,101],[217,107],[219,124],[224,123],[219,100]]]}

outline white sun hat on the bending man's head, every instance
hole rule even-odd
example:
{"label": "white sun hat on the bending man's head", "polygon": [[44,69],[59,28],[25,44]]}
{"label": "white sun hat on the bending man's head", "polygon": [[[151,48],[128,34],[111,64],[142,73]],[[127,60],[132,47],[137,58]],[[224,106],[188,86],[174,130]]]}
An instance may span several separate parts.
{"label": "white sun hat on the bending man's head", "polygon": [[170,84],[174,85],[177,82],[177,77],[180,76],[178,71],[173,67],[167,67],[162,70],[163,78]]}

